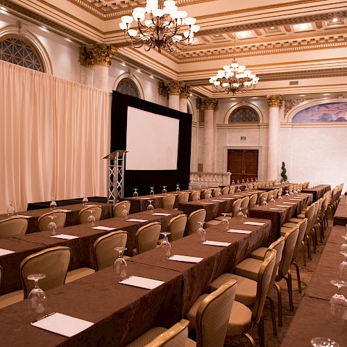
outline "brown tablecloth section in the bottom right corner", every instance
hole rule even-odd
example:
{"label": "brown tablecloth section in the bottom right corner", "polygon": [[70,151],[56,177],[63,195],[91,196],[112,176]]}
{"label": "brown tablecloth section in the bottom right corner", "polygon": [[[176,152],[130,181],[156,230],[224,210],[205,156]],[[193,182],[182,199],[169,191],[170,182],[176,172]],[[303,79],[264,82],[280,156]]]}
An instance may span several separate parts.
{"label": "brown tablecloth section in the bottom right corner", "polygon": [[329,301],[304,297],[291,321],[281,347],[311,346],[314,337],[328,337],[340,347],[346,346],[345,325],[335,325],[330,320]]}

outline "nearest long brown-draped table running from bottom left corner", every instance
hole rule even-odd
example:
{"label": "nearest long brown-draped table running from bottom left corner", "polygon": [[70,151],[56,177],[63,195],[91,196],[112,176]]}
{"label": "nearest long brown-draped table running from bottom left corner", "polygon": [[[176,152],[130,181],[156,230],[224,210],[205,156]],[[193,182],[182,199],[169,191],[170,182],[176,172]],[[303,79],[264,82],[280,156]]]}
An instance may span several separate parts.
{"label": "nearest long brown-draped table running from bottom left corner", "polygon": [[250,234],[234,234],[220,227],[206,230],[207,239],[230,242],[227,247],[203,245],[196,235],[171,243],[171,254],[203,257],[198,264],[165,260],[159,257],[158,248],[128,260],[128,276],[165,282],[153,290],[119,284],[112,278],[110,267],[46,291],[48,312],[94,322],[70,339],[31,326],[29,322],[34,317],[28,312],[26,301],[5,307],[0,310],[1,344],[125,346],[154,326],[169,328],[185,315],[198,296],[208,291],[214,278],[232,271],[255,248],[269,244],[271,223],[261,222],[263,226],[246,226],[237,219],[230,222],[230,228],[252,230]]}

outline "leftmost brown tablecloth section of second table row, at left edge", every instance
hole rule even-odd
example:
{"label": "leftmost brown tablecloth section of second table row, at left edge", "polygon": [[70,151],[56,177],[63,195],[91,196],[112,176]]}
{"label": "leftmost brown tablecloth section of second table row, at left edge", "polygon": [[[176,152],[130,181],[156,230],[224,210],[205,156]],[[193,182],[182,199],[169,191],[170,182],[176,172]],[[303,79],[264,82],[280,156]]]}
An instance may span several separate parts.
{"label": "leftmost brown tablecloth section of second table row, at left edge", "polygon": [[46,246],[11,238],[0,239],[0,248],[15,251],[15,253],[1,255],[0,257],[0,265],[3,268],[3,278],[0,286],[0,294],[2,295],[22,289],[19,265],[25,257],[42,251]]}

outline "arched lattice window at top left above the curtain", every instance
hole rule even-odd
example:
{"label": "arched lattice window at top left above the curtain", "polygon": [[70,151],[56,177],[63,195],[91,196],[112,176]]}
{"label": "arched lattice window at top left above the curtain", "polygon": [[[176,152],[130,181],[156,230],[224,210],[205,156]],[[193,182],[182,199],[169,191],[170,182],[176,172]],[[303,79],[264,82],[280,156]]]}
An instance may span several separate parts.
{"label": "arched lattice window at top left above the curtain", "polygon": [[39,53],[24,37],[16,35],[0,37],[0,60],[44,72],[44,65]]}

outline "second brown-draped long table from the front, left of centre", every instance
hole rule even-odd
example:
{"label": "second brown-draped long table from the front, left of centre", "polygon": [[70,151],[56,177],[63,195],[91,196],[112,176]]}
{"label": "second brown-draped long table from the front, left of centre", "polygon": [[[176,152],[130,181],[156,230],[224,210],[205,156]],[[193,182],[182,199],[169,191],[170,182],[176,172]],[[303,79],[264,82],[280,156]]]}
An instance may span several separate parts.
{"label": "second brown-draped long table from the front, left of centre", "polygon": [[[135,248],[135,235],[138,228],[152,221],[162,223],[162,230],[167,230],[167,224],[171,218],[181,211],[156,209],[153,213],[167,213],[169,216],[155,216],[149,211],[139,212],[129,215],[129,218],[146,219],[143,222],[125,221],[121,217],[104,219],[97,221],[96,226],[106,226],[115,230],[125,230],[128,232],[126,254],[132,255]],[[67,228],[57,229],[58,233],[65,235],[78,236],[76,239],[57,239],[51,237],[50,231],[33,232],[27,235],[18,235],[10,239],[0,239],[0,248],[15,251],[8,255],[0,256],[0,265],[3,267],[3,282],[0,288],[0,294],[6,294],[22,288],[19,274],[19,265],[28,255],[42,251],[44,248],[55,246],[67,246],[71,248],[71,262],[69,270],[81,267],[90,267],[94,269],[93,245],[96,239],[108,234],[108,230],[95,230],[90,228],[89,224],[79,224]]]}

